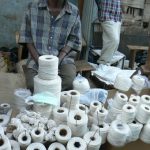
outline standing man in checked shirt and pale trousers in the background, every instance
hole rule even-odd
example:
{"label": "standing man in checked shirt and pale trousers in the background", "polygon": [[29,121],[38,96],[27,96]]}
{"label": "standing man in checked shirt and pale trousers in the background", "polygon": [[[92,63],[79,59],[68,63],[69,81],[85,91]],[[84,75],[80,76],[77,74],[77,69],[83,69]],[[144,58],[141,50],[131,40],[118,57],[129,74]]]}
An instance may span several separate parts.
{"label": "standing man in checked shirt and pale trousers in the background", "polygon": [[103,48],[97,63],[110,64],[120,42],[122,10],[126,0],[95,0],[98,6],[98,18],[103,30]]}

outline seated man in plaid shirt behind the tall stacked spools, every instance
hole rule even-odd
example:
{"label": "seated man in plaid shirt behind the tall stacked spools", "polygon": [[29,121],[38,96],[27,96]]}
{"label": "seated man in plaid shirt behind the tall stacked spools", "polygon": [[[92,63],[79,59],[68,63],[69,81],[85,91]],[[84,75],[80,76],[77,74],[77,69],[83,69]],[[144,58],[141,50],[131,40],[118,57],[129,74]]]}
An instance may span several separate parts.
{"label": "seated man in plaid shirt behind the tall stacked spools", "polygon": [[72,88],[76,75],[74,59],[81,50],[81,22],[76,6],[67,0],[36,0],[29,4],[19,43],[25,44],[29,50],[28,88],[33,90],[38,58],[44,54],[58,56],[62,90]]}

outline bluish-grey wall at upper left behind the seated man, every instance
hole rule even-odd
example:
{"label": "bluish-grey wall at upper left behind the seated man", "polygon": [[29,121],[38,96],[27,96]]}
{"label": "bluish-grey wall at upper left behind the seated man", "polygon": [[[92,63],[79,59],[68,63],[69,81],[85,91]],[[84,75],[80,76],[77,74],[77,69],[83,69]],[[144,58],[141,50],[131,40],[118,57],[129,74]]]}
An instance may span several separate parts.
{"label": "bluish-grey wall at upper left behind the seated man", "polygon": [[[0,47],[16,45],[15,32],[19,31],[24,10],[33,0],[0,0]],[[74,4],[77,1],[70,0]]]}

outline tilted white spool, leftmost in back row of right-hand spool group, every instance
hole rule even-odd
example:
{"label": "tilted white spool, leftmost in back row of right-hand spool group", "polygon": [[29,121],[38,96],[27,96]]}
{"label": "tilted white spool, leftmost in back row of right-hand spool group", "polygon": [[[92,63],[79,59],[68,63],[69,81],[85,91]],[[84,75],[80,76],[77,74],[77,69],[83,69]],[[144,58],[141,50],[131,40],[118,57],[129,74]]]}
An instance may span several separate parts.
{"label": "tilted white spool, leftmost in back row of right-hand spool group", "polygon": [[122,107],[127,103],[127,101],[128,101],[127,95],[116,92],[112,105],[117,109],[122,109]]}

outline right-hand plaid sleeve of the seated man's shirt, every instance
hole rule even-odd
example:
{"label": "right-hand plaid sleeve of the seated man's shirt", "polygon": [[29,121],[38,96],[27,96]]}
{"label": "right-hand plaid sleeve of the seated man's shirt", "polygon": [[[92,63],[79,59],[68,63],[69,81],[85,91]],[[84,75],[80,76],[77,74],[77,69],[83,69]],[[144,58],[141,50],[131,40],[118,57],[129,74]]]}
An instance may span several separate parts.
{"label": "right-hand plaid sleeve of the seated man's shirt", "polygon": [[71,32],[67,39],[67,46],[74,50],[81,51],[82,48],[82,35],[81,35],[81,21],[79,13],[76,21],[71,29]]}

